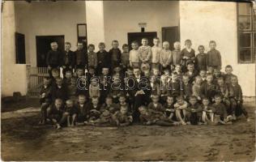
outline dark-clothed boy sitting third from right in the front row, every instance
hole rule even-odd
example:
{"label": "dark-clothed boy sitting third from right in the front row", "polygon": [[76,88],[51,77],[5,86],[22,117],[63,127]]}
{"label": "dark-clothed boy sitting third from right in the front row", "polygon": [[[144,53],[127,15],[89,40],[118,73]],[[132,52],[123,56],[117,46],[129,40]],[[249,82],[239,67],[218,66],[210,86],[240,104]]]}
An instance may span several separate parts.
{"label": "dark-clothed boy sitting third from right in the front row", "polygon": [[202,107],[198,104],[196,96],[190,96],[190,105],[186,109],[186,118],[191,125],[198,125],[201,122]]}

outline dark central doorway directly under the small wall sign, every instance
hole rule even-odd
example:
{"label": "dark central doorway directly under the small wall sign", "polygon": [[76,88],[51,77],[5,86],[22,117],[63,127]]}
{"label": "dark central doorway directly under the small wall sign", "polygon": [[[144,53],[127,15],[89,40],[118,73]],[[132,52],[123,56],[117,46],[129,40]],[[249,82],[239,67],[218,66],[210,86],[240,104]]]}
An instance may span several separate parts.
{"label": "dark central doorway directly under the small wall sign", "polygon": [[130,44],[133,41],[138,41],[139,45],[141,45],[141,40],[147,38],[148,45],[153,46],[153,38],[156,36],[156,32],[128,32],[128,45],[130,47]]}

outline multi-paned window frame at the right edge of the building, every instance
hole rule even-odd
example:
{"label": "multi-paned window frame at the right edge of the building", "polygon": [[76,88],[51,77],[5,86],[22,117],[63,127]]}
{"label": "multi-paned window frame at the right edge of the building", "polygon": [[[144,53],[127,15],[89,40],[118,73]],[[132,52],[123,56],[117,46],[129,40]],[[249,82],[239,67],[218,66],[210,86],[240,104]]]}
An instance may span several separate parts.
{"label": "multi-paned window frame at the right edge of the building", "polygon": [[[253,4],[250,3],[250,15],[240,15],[239,14],[239,3],[237,2],[237,62],[238,64],[255,64],[256,62],[256,27],[254,27],[254,8]],[[242,3],[242,2],[241,2]],[[247,3],[247,2],[246,2]],[[247,3],[248,4],[248,3]],[[239,28],[239,19],[242,16],[250,16],[250,29]],[[255,15],[256,16],[256,15]],[[241,33],[250,33],[250,47],[241,47],[240,46],[240,34]],[[241,49],[250,49],[250,61],[241,60]]]}

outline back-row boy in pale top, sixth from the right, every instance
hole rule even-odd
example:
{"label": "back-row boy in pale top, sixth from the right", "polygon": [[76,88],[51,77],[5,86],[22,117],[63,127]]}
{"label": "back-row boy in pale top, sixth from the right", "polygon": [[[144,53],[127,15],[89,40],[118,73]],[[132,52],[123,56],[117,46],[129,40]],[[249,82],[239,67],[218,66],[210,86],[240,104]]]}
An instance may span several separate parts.
{"label": "back-row boy in pale top, sixth from the right", "polygon": [[162,48],[160,47],[160,39],[158,37],[153,39],[154,46],[151,47],[152,56],[151,56],[151,69],[160,68],[160,52]]}

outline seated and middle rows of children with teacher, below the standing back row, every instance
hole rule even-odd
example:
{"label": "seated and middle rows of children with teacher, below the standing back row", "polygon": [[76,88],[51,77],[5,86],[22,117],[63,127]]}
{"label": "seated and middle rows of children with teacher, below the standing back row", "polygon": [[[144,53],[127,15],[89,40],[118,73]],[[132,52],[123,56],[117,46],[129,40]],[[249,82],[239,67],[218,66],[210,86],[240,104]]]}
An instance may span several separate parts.
{"label": "seated and middle rows of children with teacher, below the standing back row", "polygon": [[[118,67],[118,68],[117,68]],[[145,73],[139,67],[128,67],[125,74],[116,66],[96,75],[90,66],[74,74],[67,70],[64,79],[52,70],[45,77],[41,91],[41,124],[52,122],[57,128],[79,124],[93,126],[128,126],[134,122],[146,125],[176,126],[186,124],[230,124],[244,114],[242,91],[232,66],[225,74],[214,69],[194,70],[194,62]],[[192,75],[191,75],[192,74]]]}

